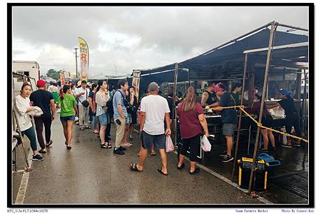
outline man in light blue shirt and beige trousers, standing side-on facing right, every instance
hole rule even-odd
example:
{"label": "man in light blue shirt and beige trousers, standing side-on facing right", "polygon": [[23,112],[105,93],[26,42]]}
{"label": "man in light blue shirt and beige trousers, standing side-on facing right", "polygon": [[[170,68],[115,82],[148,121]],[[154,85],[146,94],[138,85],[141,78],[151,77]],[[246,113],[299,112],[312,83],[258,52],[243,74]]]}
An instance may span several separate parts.
{"label": "man in light blue shirt and beige trousers, standing side-on facing right", "polygon": [[118,88],[118,91],[116,91],[116,93],[113,95],[113,118],[116,124],[116,140],[113,153],[117,155],[124,155],[126,148],[121,146],[121,140],[125,134],[127,116],[126,106],[128,105],[125,99],[125,91],[128,90],[128,82],[126,79],[121,79],[118,81]]}

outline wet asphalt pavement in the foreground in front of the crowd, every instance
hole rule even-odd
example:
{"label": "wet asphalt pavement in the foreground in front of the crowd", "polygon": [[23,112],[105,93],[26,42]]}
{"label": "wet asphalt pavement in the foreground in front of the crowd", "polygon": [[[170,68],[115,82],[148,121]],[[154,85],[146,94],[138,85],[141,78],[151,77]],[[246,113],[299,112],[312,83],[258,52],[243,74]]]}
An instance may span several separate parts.
{"label": "wet asphalt pavement in the foreground in front of the crowd", "polygon": [[[93,130],[73,127],[73,144],[64,144],[58,116],[51,127],[54,144],[33,161],[24,204],[262,204],[247,193],[201,169],[190,175],[188,167],[176,169],[177,155],[168,154],[168,176],[161,175],[159,153],[148,156],[144,171],[133,172],[129,164],[138,161],[138,134],[124,156],[113,149],[100,148]],[[111,129],[114,146],[115,126]],[[29,143],[26,143],[29,144]],[[22,168],[17,152],[18,169]],[[20,159],[20,160],[19,160]],[[184,161],[188,165],[188,161]],[[12,201],[16,200],[22,173],[13,174]]]}

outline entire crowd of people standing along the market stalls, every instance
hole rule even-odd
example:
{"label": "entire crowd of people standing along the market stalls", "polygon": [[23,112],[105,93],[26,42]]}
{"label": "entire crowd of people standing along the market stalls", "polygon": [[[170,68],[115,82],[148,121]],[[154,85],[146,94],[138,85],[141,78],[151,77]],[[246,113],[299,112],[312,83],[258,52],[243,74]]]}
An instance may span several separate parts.
{"label": "entire crowd of people standing along the market stalls", "polygon": [[[76,87],[76,85],[78,85]],[[46,90],[46,82],[39,80],[36,83],[38,90],[31,93],[29,83],[24,83],[21,93],[15,98],[15,109],[17,121],[21,133],[26,135],[31,143],[34,153],[32,159],[42,161],[44,158],[39,153],[46,153],[54,142],[51,140],[51,123],[55,119],[56,107],[60,109],[60,121],[63,126],[63,135],[68,150],[72,146],[73,124],[78,117],[78,125],[81,131],[85,128],[92,129],[100,141],[100,148],[113,148],[116,155],[124,155],[126,147],[132,146],[128,141],[133,141],[133,130],[138,123],[140,136],[140,151],[138,163],[131,163],[131,170],[141,172],[148,157],[148,150],[151,155],[156,155],[156,150],[161,156],[161,168],[158,172],[168,175],[167,156],[165,153],[166,137],[171,135],[171,120],[177,115],[180,121],[179,133],[182,140],[182,148],[179,150],[177,169],[182,170],[185,165],[183,159],[189,152],[190,175],[200,172],[196,167],[196,156],[200,145],[201,137],[209,136],[208,125],[205,119],[203,108],[213,108],[220,113],[223,123],[223,136],[225,136],[226,149],[222,156],[223,162],[233,161],[233,136],[236,128],[237,112],[235,108],[222,108],[238,106],[240,104],[240,91],[242,86],[233,86],[228,92],[223,83],[210,82],[202,94],[200,103],[196,101],[195,88],[190,86],[185,95],[178,94],[175,99],[177,114],[171,113],[173,108],[173,88],[168,88],[166,98],[159,95],[159,86],[152,82],[148,86],[148,92],[138,101],[133,86],[128,86],[126,79],[118,81],[118,88],[108,86],[108,81],[101,80],[98,83],[87,83],[83,80],[76,83],[68,82],[59,91],[55,83],[51,83]],[[30,96],[30,99],[29,99]],[[285,109],[285,122],[287,133],[290,133],[292,126],[295,133],[300,135],[300,124],[298,123],[297,111],[289,91],[280,91],[281,101],[276,103],[274,108],[282,106]],[[255,94],[255,102],[245,111],[254,115],[260,114],[262,96]],[[57,106],[56,106],[57,104]],[[29,116],[33,106],[41,109],[41,116],[34,116],[34,125]],[[263,106],[263,126],[272,127],[272,116]],[[91,126],[89,126],[91,123]],[[111,123],[116,126],[116,138],[114,145],[111,143]],[[77,124],[77,123],[76,123]],[[34,130],[36,128],[36,132]],[[43,137],[45,133],[45,140]],[[268,144],[271,143],[275,150],[275,138],[272,131],[262,128],[263,147],[260,151],[267,152]],[[37,150],[36,136],[40,150]],[[287,147],[292,146],[290,138],[287,139]]]}

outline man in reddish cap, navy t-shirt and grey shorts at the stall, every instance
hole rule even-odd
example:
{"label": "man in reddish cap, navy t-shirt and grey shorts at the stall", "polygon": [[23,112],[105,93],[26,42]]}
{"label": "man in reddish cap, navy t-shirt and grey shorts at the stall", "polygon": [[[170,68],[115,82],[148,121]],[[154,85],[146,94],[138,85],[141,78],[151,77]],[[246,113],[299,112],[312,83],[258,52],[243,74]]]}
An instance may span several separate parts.
{"label": "man in reddish cap, navy t-shirt and grey shorts at the stall", "polygon": [[220,156],[223,157],[222,162],[226,163],[233,161],[233,136],[236,124],[238,123],[238,115],[236,114],[236,110],[234,108],[220,108],[235,106],[233,96],[225,90],[225,86],[223,85],[223,83],[217,83],[214,86],[214,91],[216,95],[220,97],[220,101],[218,101],[217,103],[213,103],[213,106],[217,107],[214,108],[215,111],[221,112],[220,116],[223,123],[223,136],[225,136],[226,139],[226,151],[221,153]]}

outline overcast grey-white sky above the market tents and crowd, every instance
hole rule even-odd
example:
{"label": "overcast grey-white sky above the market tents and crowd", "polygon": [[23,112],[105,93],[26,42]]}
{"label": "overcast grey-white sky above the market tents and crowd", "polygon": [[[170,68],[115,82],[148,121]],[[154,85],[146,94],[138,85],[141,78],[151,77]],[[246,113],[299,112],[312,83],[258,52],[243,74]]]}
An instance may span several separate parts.
{"label": "overcast grey-white sky above the market tents and crowd", "polygon": [[13,60],[38,61],[41,73],[75,71],[73,48],[81,36],[89,46],[90,76],[116,69],[124,75],[202,54],[273,20],[307,29],[308,9],[14,7]]}

